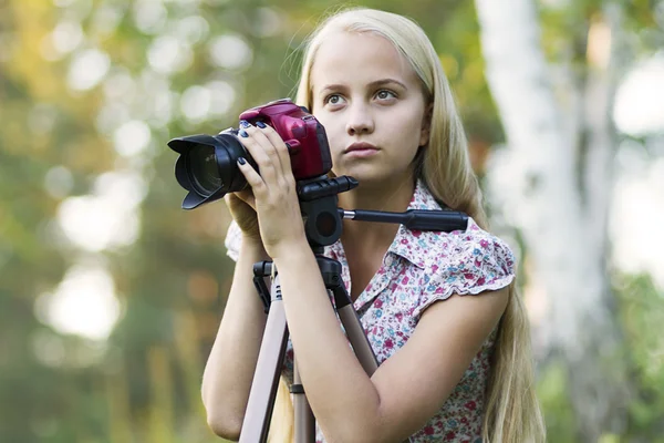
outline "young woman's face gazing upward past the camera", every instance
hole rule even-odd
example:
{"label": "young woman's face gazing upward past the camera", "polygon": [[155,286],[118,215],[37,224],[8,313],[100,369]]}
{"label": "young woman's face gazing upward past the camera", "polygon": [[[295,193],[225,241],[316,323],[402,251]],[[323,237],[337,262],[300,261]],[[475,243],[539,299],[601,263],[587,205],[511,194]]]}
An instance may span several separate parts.
{"label": "young woman's face gazing upward past the camera", "polygon": [[408,179],[428,141],[419,79],[396,48],[374,33],[333,33],[311,71],[312,112],[325,127],[333,172],[360,184]]}

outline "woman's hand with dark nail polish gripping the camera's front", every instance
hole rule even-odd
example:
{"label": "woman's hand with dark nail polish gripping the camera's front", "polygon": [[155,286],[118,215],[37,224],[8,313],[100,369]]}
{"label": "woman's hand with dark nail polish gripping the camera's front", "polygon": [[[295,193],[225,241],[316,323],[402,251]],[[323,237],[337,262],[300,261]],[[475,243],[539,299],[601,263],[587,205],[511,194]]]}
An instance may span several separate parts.
{"label": "woman's hand with dark nail polish gripping the camera's front", "polygon": [[238,161],[253,192],[260,238],[274,259],[289,248],[307,245],[290,155],[279,134],[261,122],[257,126],[241,122],[239,135],[260,171],[259,175],[245,158]]}

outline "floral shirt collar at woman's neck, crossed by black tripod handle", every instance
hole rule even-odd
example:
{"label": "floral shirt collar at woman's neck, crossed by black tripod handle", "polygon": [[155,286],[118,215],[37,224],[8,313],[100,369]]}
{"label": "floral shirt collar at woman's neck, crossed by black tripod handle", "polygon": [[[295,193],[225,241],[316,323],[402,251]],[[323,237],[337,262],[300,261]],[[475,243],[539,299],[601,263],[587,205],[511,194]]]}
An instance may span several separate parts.
{"label": "floral shirt collar at woman's neck, crossed by black tripod handle", "polygon": [[[418,179],[415,185],[413,198],[411,198],[411,203],[408,204],[408,209],[440,210],[442,207],[427,189],[426,185]],[[422,254],[422,250],[426,250],[427,246],[418,248],[415,247],[415,245],[424,241],[425,238],[423,237],[427,237],[428,234],[429,233],[424,233],[422,230],[411,230],[404,225],[400,225],[394,241],[390,246],[390,249],[387,249],[387,253],[403,257],[418,268],[424,269],[426,257]]]}

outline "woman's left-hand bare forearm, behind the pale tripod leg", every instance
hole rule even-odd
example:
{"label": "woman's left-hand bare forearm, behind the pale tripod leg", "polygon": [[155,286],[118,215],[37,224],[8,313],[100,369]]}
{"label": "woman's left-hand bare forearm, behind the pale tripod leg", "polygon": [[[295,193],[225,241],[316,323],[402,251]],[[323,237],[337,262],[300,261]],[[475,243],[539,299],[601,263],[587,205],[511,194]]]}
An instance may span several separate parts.
{"label": "woman's left-hand bare forearm, behind the pale tripod leg", "polygon": [[267,316],[253,286],[253,264],[268,256],[260,240],[242,239],[230,293],[203,375],[211,430],[238,440]]}

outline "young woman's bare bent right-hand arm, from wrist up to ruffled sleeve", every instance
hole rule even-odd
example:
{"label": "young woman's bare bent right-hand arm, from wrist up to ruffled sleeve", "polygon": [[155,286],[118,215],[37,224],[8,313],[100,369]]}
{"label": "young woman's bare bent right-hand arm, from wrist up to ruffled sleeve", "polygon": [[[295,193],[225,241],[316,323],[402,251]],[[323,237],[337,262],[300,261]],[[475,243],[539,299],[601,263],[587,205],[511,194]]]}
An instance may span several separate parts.
{"label": "young woman's bare bent right-hand arm, from wrist up to ruffled sleeve", "polygon": [[453,296],[426,309],[370,379],[349,347],[305,245],[276,259],[307,398],[329,442],[402,442],[442,408],[498,323],[507,289]]}

